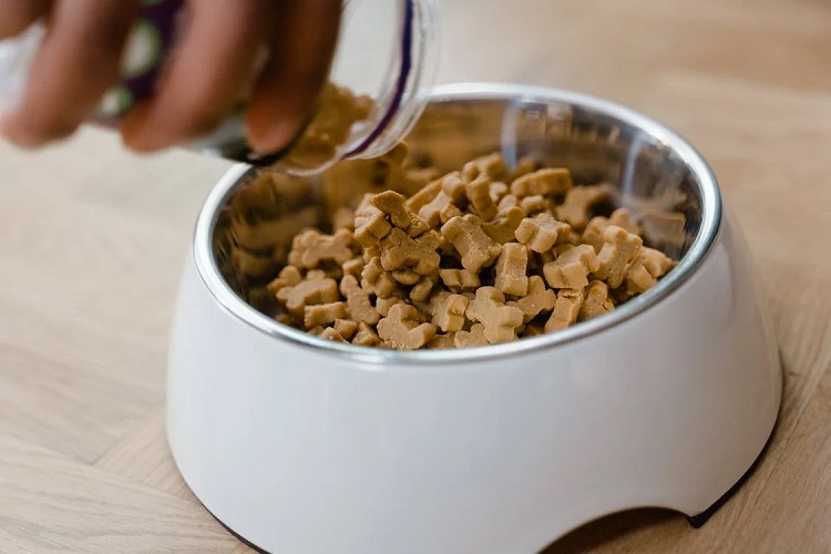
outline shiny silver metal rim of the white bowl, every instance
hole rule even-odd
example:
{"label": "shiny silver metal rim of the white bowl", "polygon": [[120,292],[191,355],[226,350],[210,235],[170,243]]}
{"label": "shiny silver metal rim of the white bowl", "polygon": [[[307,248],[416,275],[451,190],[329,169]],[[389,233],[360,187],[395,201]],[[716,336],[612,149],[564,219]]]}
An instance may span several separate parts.
{"label": "shiny silver metal rim of the white bowl", "polygon": [[657,305],[678,289],[693,276],[695,269],[706,258],[718,236],[721,224],[721,195],[712,170],[704,157],[680,135],[623,105],[558,89],[497,83],[456,83],[435,88],[429,98],[430,103],[459,100],[522,100],[567,103],[615,117],[627,125],[646,132],[673,151],[695,176],[701,193],[701,226],[698,236],[678,265],[656,286],[608,314],[564,330],[512,342],[464,349],[401,351],[361,347],[322,339],[279,324],[249,306],[227,284],[214,257],[213,235],[222,207],[226,204],[242,177],[252,171],[249,165],[237,164],[219,178],[208,194],[197,217],[193,236],[193,256],[197,273],[219,306],[257,332],[294,346],[309,348],[319,353],[359,361],[368,365],[368,369],[383,369],[386,366],[400,365],[464,363],[512,357],[527,351],[547,350],[585,339],[620,325]]}

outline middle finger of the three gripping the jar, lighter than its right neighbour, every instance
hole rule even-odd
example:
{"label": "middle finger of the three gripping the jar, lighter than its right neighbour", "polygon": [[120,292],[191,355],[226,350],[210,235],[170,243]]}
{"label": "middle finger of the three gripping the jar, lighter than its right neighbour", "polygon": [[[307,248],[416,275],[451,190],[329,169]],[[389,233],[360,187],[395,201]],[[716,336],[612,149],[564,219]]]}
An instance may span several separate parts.
{"label": "middle finger of the three gripping the jar, lighter than its right neighbour", "polygon": [[212,131],[239,100],[271,19],[270,0],[194,0],[181,45],[148,101],[122,124],[124,142],[155,151]]}

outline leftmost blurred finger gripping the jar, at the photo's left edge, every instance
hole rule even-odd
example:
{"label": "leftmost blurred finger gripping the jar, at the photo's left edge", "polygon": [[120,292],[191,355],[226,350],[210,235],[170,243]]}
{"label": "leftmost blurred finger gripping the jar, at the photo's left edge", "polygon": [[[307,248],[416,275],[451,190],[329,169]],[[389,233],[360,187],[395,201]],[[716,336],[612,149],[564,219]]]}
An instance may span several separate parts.
{"label": "leftmost blurred finger gripping the jar, at the photo's left edge", "polygon": [[[57,1],[23,96],[0,132],[28,147],[70,135],[117,81],[136,7],[135,0]],[[23,12],[19,22],[32,16]]]}

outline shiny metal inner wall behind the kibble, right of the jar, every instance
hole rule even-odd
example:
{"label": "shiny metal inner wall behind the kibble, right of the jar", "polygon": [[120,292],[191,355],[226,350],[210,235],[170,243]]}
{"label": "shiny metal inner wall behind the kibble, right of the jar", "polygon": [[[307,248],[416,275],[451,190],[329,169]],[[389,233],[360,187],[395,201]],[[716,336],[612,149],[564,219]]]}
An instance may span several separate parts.
{"label": "shiny metal inner wall behind the kibble, right of the jar", "polygon": [[611,184],[615,198],[595,215],[629,208],[645,226],[647,245],[678,260],[701,232],[705,187],[654,131],[623,120],[619,110],[566,100],[462,98],[432,103],[408,144],[416,163],[442,171],[501,152],[510,165],[530,156],[567,167],[575,184]]}

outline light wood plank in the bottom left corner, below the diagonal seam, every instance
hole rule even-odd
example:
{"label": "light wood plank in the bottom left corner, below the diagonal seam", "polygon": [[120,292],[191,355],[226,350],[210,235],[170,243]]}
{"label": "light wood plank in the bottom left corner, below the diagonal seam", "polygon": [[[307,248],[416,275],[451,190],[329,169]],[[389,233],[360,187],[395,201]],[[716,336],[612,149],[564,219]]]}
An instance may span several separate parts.
{"label": "light wood plank in the bottom left corner, below the diagonal seam", "polygon": [[0,552],[234,547],[234,537],[189,502],[4,437],[0,452]]}

